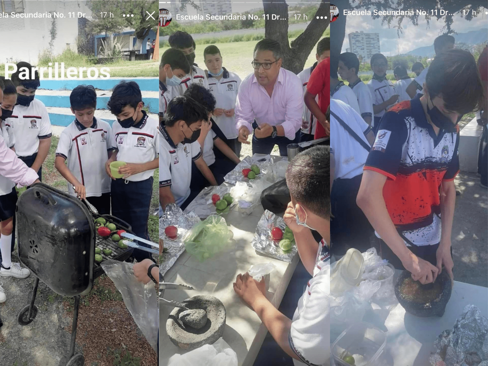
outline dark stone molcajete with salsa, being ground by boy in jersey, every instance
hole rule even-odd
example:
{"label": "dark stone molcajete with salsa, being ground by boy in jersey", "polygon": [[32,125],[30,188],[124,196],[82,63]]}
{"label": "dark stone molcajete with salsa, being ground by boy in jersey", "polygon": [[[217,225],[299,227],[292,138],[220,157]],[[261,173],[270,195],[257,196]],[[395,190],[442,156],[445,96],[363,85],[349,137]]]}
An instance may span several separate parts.
{"label": "dark stone molcajete with salsa, being ground by boy in jersey", "polygon": [[403,271],[395,284],[395,296],[405,311],[412,315],[442,317],[451,297],[451,289],[451,279],[446,269],[433,284],[427,285],[413,281],[411,273]]}

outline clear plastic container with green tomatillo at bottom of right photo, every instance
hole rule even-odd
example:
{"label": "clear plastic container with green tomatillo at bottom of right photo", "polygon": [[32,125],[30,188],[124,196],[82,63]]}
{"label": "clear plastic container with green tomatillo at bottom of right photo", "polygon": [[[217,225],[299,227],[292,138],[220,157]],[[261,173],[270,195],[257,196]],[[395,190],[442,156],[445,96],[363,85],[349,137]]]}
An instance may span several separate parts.
{"label": "clear plastic container with green tomatillo at bottom of right photo", "polygon": [[386,345],[386,334],[377,327],[361,322],[348,327],[332,344],[331,353],[336,366],[350,366],[342,360],[354,357],[355,366],[376,366]]}

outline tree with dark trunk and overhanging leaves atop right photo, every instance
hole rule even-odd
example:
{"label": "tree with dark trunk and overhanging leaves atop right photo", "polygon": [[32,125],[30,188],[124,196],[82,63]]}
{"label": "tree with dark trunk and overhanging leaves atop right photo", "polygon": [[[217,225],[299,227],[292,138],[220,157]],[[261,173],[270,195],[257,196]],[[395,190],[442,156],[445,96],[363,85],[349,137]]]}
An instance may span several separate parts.
{"label": "tree with dark trunk and overhanging leaves atop right photo", "polygon": [[[426,14],[423,17],[427,20],[427,27],[431,18],[437,18],[437,20],[443,18],[445,26],[442,29],[444,34],[455,33],[452,28],[452,15],[454,13],[461,12],[460,14],[468,21],[472,20],[478,14],[483,7],[486,7],[486,0],[470,0],[467,3],[466,0],[335,0],[334,4],[342,11],[343,9],[350,10],[372,10],[377,9],[381,11],[385,10],[420,10],[425,11]],[[447,11],[441,14],[441,10]],[[464,12],[463,12],[464,10]],[[433,12],[432,12],[433,11]],[[331,55],[339,55],[341,53],[342,44],[346,36],[346,15],[341,14],[339,18],[331,23],[330,28],[333,32],[334,45],[330,44]],[[380,15],[372,15],[372,19],[380,18]],[[419,15],[414,11],[413,15],[410,16],[395,16],[395,15],[385,15],[382,19],[382,25],[384,23],[391,26],[393,20],[397,20],[394,28],[397,28],[398,36],[402,33],[402,23],[403,20],[407,18],[411,20],[414,25],[418,25]]]}

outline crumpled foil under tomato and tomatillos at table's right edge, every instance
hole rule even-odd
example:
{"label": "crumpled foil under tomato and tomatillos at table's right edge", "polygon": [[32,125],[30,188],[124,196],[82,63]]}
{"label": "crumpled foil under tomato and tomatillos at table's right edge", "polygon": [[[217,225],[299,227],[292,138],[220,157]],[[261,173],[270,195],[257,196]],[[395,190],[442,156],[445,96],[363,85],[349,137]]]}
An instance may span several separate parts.
{"label": "crumpled foil under tomato and tomatillos at table's right edge", "polygon": [[297,254],[297,246],[293,245],[290,253],[283,253],[278,244],[279,242],[275,242],[271,238],[271,229],[275,226],[285,230],[285,221],[283,221],[282,217],[265,210],[256,226],[256,233],[254,234],[251,245],[260,253],[279,259],[280,261],[291,263],[295,254]]}

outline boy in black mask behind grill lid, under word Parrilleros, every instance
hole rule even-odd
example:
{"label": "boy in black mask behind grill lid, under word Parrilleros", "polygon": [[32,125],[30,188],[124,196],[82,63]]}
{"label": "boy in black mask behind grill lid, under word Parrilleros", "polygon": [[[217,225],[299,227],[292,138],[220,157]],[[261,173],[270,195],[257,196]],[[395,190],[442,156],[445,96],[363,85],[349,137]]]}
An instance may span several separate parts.
{"label": "boy in black mask behind grill lid, under word Parrilleros", "polygon": [[[27,78],[20,79],[20,73],[29,70]],[[16,154],[27,166],[34,169],[42,181],[42,163],[46,160],[51,146],[51,121],[47,109],[40,100],[35,99],[36,90],[41,86],[39,73],[31,75],[32,65],[17,63],[17,71],[12,74],[12,82],[17,89],[17,105],[7,123],[13,128],[16,139]]]}

